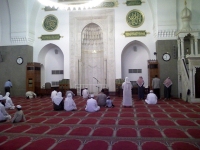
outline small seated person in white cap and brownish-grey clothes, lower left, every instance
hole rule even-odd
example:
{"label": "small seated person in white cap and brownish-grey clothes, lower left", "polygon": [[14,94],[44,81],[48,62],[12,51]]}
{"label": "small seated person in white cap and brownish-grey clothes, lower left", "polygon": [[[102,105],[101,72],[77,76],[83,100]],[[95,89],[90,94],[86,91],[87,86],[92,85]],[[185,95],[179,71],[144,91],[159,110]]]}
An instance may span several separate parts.
{"label": "small seated person in white cap and brownish-grey clothes, lower left", "polygon": [[26,121],[25,115],[22,111],[22,106],[17,105],[16,109],[17,111],[15,112],[14,117],[11,119],[11,122],[16,123],[16,122]]}

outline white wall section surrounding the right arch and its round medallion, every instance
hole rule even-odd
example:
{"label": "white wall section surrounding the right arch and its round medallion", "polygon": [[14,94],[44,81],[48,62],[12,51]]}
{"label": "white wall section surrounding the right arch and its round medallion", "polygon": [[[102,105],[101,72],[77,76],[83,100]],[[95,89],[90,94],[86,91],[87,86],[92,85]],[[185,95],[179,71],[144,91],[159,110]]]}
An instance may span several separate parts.
{"label": "white wall section surrounding the right arch and its round medallion", "polygon": [[[119,0],[119,6],[115,8],[115,57],[116,57],[116,78],[122,78],[121,72],[121,54],[124,47],[130,43],[131,41],[140,41],[144,45],[146,45],[150,50],[150,58],[156,59],[153,54],[156,51],[155,48],[155,38],[153,35],[153,14],[150,9],[150,5],[148,1],[142,3],[139,6],[126,6],[123,4],[123,0]],[[138,9],[143,12],[145,16],[144,23],[138,28],[132,28],[126,23],[126,15],[129,11],[133,9]],[[122,35],[125,31],[138,31],[138,30],[146,30],[146,32],[150,32],[145,37],[125,37]],[[146,75],[147,76],[147,75]],[[146,77],[145,77],[146,78]]]}

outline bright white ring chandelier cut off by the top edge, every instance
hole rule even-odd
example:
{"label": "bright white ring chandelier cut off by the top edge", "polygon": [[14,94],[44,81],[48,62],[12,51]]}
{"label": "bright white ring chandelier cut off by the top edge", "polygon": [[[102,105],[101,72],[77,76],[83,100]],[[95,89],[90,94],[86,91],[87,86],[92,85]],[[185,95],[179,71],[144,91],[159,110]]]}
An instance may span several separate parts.
{"label": "bright white ring chandelier cut off by the top edge", "polygon": [[42,5],[61,10],[84,10],[98,6],[104,0],[38,0]]}

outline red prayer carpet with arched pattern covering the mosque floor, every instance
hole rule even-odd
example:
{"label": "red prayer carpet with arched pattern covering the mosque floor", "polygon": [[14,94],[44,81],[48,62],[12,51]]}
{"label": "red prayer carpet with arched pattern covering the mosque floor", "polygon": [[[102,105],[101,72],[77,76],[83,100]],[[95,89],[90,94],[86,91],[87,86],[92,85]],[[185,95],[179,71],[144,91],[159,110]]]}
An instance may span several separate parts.
{"label": "red prayer carpet with arched pattern covering the mosque floor", "polygon": [[[114,108],[85,112],[86,101],[74,98],[77,111],[53,111],[49,97],[12,97],[26,122],[0,123],[0,150],[199,150],[200,103],[180,99],[147,105],[134,98],[132,108],[111,96]],[[7,110],[13,116],[15,110]]]}

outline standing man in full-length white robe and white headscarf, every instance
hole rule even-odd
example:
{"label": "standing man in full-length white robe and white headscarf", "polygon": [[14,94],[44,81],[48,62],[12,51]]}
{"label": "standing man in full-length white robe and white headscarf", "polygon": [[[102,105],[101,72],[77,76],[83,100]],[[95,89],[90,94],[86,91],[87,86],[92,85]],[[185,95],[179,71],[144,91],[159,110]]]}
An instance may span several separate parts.
{"label": "standing man in full-length white robe and white headscarf", "polygon": [[122,83],[122,89],[123,89],[123,102],[122,105],[124,107],[132,107],[132,84],[129,81],[129,78],[125,78],[125,82]]}

